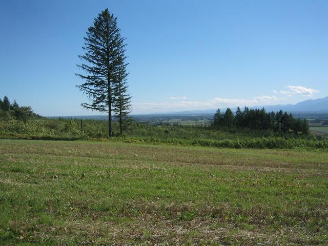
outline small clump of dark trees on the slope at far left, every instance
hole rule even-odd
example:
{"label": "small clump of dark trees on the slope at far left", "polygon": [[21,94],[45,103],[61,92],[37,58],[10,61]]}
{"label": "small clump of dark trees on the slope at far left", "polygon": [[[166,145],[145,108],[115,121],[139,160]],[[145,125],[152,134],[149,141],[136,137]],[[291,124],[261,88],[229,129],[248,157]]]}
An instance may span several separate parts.
{"label": "small clump of dark trees on the slope at far left", "polygon": [[7,96],[4,99],[0,98],[0,118],[2,119],[17,119],[22,120],[26,123],[27,120],[33,117],[40,117],[39,115],[33,113],[33,110],[29,106],[19,106],[16,100],[10,103]]}

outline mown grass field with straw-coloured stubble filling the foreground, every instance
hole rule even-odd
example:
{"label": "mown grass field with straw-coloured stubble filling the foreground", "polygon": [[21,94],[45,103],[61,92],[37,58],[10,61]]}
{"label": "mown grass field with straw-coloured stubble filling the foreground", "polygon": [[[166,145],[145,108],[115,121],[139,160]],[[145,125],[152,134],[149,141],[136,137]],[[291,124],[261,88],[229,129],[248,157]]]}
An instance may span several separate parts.
{"label": "mown grass field with straw-coloured stubble filling the foreground", "polygon": [[326,245],[328,154],[0,140],[0,244]]}

